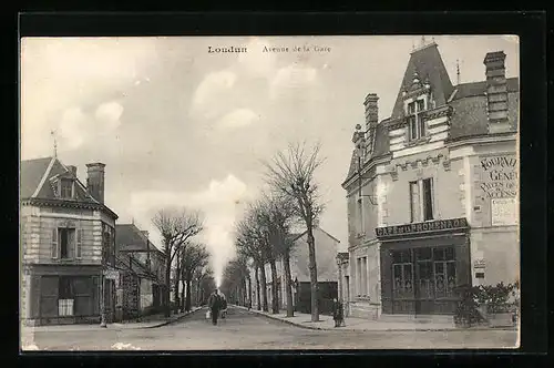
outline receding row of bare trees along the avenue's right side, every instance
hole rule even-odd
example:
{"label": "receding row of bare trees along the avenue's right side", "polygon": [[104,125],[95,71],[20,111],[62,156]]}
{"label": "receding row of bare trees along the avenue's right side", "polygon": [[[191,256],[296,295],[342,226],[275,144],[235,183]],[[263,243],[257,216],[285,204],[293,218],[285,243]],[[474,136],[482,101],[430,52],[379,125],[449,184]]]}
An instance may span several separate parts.
{"label": "receding row of bare trees along the avenue's right side", "polygon": [[[289,257],[294,246],[291,229],[301,224],[306,229],[311,283],[311,320],[319,320],[316,242],[314,227],[324,211],[315,172],[322,164],[320,145],[308,149],[305,143],[290,144],[271,161],[264,162],[268,191],[247,205],[244,217],[236,224],[236,258],[225,272],[225,284],[239,295],[252,298],[248,265],[255,269],[258,308],[268,310],[265,265],[271,273],[271,311],[279,311],[277,267],[283,260],[287,316],[294,315],[293,282]],[[249,287],[246,287],[248,283]],[[261,300],[260,300],[261,299]],[[249,300],[252,303],[252,300]]]}

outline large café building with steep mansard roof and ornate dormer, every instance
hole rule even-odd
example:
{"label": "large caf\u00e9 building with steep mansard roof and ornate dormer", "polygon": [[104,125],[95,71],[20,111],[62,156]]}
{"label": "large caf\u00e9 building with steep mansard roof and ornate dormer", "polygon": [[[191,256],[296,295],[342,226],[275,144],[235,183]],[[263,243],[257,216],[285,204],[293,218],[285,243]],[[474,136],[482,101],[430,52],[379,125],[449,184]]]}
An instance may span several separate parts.
{"label": "large caf\u00e9 building with steep mansard roof and ornate dormer", "polygon": [[352,316],[451,315],[456,286],[517,278],[520,93],[505,58],[486,53],[483,80],[453,85],[437,43],[423,44],[390,117],[366,98],[342,184]]}

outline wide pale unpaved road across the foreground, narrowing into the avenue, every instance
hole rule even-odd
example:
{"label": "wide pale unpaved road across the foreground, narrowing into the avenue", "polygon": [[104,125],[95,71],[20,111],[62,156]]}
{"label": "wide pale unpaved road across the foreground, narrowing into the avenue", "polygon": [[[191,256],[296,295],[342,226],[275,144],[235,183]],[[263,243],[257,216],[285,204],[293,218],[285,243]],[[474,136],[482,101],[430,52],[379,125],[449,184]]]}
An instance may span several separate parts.
{"label": "wide pale unpaved road across the foreground, narrowing into the avenue", "polygon": [[45,350],[227,350],[227,349],[452,349],[514,347],[516,333],[473,331],[348,331],[310,330],[232,308],[213,326],[205,310],[181,321],[147,329],[104,329],[35,333],[35,345]]}

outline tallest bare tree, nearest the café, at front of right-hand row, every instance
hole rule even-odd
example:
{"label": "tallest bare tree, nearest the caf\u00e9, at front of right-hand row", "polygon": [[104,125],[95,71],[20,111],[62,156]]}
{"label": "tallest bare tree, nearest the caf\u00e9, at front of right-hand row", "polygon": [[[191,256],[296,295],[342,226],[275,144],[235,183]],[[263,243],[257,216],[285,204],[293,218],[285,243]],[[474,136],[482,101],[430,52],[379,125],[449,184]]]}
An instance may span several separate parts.
{"label": "tallest bare tree, nearest the caf\u00e9, at front of right-hand row", "polygon": [[315,180],[316,170],[324,163],[320,144],[311,149],[306,143],[289,144],[270,162],[265,162],[266,182],[278,193],[294,200],[295,213],[306,225],[311,283],[311,320],[319,320],[316,241],[314,227],[324,211]]}

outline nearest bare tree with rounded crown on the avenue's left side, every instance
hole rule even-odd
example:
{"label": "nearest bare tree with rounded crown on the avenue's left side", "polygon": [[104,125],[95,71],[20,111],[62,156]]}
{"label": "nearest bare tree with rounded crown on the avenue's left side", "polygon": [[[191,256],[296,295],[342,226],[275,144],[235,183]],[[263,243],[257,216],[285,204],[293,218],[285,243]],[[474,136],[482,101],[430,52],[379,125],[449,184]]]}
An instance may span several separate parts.
{"label": "nearest bare tree with rounded crown on the avenue's left side", "polygon": [[[171,315],[170,287],[173,260],[189,239],[202,232],[203,216],[201,212],[188,208],[164,208],[154,215],[152,223],[162,236],[164,253],[166,255],[165,285],[167,290],[164,293],[164,304],[165,316],[168,317]],[[176,283],[175,287],[177,285],[178,283]]]}

